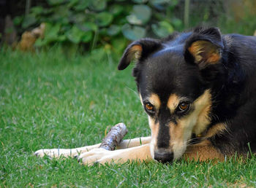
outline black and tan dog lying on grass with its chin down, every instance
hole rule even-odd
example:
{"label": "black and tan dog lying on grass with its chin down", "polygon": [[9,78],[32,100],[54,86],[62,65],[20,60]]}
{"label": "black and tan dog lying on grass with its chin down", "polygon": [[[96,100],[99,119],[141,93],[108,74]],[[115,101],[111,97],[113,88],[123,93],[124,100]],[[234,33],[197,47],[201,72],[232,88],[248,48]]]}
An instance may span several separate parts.
{"label": "black and tan dog lying on grass with its chin down", "polygon": [[197,27],[165,39],[129,44],[118,64],[135,59],[133,77],[151,136],[124,140],[117,150],[99,144],[40,149],[37,156],[78,157],[84,164],[128,160],[225,160],[256,152],[256,37]]}

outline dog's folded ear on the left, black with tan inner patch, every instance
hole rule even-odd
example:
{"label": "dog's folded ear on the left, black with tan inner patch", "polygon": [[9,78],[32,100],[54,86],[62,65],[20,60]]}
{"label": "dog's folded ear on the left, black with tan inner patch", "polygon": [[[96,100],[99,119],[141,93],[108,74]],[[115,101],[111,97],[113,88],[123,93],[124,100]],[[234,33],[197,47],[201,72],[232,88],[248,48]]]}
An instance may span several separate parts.
{"label": "dog's folded ear on the left, black with tan inner patch", "polygon": [[118,64],[118,70],[124,70],[133,59],[141,61],[152,52],[161,47],[161,43],[155,39],[140,39],[129,44]]}

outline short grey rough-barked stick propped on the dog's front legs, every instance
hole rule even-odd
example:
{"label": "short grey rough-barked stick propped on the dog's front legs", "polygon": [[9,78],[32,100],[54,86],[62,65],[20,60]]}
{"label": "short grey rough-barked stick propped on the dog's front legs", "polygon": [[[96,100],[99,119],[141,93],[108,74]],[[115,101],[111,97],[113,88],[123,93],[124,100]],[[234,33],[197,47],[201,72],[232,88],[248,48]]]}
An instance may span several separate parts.
{"label": "short grey rough-barked stick propped on the dog's front legs", "polygon": [[107,149],[110,151],[115,150],[116,146],[120,144],[121,140],[124,138],[127,132],[127,126],[125,126],[124,123],[120,122],[116,124],[113,126],[113,128],[110,129],[107,136],[103,139],[102,144],[100,144],[99,148]]}

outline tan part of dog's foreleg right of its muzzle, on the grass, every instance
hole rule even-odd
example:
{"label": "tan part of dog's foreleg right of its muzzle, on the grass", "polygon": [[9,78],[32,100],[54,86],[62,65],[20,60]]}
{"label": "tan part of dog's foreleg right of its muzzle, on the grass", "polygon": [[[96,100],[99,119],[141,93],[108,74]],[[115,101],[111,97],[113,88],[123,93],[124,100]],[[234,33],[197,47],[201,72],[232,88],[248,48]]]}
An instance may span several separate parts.
{"label": "tan part of dog's foreleg right of its muzzle, on the grass", "polygon": [[190,145],[184,153],[185,160],[220,160],[225,159],[225,155],[219,152],[210,141],[205,140],[199,144]]}

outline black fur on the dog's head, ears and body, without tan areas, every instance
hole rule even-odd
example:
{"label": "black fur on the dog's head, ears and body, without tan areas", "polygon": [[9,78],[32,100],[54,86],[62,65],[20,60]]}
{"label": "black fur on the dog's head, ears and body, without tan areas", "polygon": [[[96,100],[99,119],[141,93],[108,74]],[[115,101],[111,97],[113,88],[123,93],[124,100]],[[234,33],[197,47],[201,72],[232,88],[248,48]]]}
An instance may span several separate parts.
{"label": "black fur on the dog's head, ears and body, without tan areas", "polygon": [[[188,47],[197,40],[211,42],[219,49],[218,63],[195,63]],[[256,37],[238,34],[222,35],[218,28],[195,28],[173,34],[162,40],[141,39],[132,43],[142,46],[142,54],[133,71],[138,91],[144,98],[157,93],[167,103],[170,93],[195,101],[205,90],[211,90],[211,123],[225,123],[227,131],[209,140],[223,154],[256,152]],[[129,47],[118,65],[126,68]],[[159,124],[176,122],[160,109]],[[189,113],[189,112],[188,112]],[[165,136],[165,128],[159,129]],[[160,143],[161,144],[161,143]],[[162,143],[165,146],[165,143]]]}

